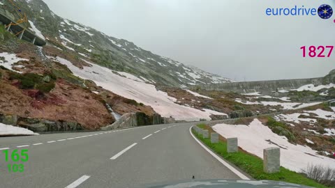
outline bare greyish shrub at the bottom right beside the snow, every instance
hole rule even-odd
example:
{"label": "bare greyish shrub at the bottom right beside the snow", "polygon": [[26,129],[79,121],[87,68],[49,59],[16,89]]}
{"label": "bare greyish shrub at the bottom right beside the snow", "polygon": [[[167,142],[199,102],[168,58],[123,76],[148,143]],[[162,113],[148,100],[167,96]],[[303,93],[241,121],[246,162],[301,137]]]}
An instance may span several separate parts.
{"label": "bare greyish shrub at the bottom right beside the snow", "polygon": [[335,169],[324,167],[320,165],[309,165],[303,170],[308,178],[319,182],[322,185],[335,187]]}

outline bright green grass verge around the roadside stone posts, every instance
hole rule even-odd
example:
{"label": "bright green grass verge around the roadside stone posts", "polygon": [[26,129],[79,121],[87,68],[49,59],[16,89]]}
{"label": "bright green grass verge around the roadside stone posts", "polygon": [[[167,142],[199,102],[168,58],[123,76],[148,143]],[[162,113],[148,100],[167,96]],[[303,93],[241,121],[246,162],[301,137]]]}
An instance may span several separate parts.
{"label": "bright green grass verge around the roadside stone posts", "polygon": [[[198,127],[202,129],[206,129],[206,125],[200,124]],[[290,171],[281,167],[281,171],[278,173],[265,173],[263,172],[263,161],[259,157],[254,155],[250,155],[246,152],[235,152],[228,153],[227,152],[227,143],[224,141],[219,141],[219,143],[211,143],[211,139],[204,139],[200,134],[192,130],[193,134],[202,141],[207,147],[214,150],[216,154],[221,155],[224,159],[232,162],[238,166],[242,171],[251,175],[251,177],[256,180],[275,180],[275,181],[283,181],[290,182],[299,185],[307,185],[311,187],[326,187],[324,185],[315,182],[309,178],[306,178],[304,175],[300,173],[296,173],[294,171]]]}

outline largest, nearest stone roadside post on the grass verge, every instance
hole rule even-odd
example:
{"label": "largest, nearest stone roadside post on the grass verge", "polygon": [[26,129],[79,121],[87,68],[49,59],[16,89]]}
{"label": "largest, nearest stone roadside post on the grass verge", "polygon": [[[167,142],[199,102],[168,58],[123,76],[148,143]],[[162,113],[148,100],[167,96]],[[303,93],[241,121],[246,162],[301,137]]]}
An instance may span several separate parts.
{"label": "largest, nearest stone roadside post on the grass verge", "polygon": [[276,173],[281,167],[280,148],[266,148],[263,150],[263,171],[265,173]]}

